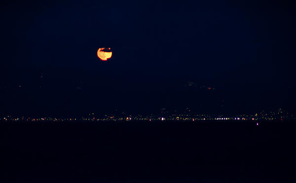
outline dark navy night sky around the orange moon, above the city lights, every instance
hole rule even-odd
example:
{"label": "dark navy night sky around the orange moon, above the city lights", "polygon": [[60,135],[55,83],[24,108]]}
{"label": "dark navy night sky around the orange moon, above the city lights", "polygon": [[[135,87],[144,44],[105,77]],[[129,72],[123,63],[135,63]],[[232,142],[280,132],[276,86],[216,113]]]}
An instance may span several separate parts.
{"label": "dark navy night sky around the orange moon, above the city lights", "polygon": [[[0,115],[296,112],[293,1],[0,7]],[[110,60],[98,59],[100,47],[111,48]]]}

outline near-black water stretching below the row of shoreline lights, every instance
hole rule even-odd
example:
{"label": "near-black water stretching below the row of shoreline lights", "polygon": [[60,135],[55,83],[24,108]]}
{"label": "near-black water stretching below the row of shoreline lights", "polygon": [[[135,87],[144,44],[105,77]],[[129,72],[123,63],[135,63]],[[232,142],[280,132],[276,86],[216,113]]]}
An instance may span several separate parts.
{"label": "near-black water stretching below the row of shoreline lights", "polygon": [[0,123],[19,183],[294,182],[295,122]]}

